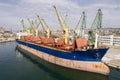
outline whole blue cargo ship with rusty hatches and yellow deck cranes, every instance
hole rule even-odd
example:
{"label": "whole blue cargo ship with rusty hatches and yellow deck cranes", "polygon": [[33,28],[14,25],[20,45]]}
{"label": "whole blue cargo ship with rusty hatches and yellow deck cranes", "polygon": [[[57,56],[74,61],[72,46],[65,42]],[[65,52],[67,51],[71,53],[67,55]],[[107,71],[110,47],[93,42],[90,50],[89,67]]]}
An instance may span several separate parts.
{"label": "whole blue cargo ship with rusty hatches and yellow deck cranes", "polygon": [[[109,48],[89,46],[88,39],[84,37],[75,37],[73,43],[70,44],[68,27],[64,25],[56,6],[54,8],[63,30],[64,39],[56,40],[56,38],[50,37],[50,29],[45,28],[43,20],[37,15],[43,30],[46,32],[46,37],[40,37],[38,30],[28,19],[33,31],[35,31],[35,36],[31,36],[30,31],[26,29],[27,36],[22,36],[16,40],[18,48],[29,52],[26,54],[30,57],[35,56],[61,67],[108,75],[110,70],[101,60]],[[22,25],[24,26],[23,22]],[[96,42],[97,39],[95,39]]]}

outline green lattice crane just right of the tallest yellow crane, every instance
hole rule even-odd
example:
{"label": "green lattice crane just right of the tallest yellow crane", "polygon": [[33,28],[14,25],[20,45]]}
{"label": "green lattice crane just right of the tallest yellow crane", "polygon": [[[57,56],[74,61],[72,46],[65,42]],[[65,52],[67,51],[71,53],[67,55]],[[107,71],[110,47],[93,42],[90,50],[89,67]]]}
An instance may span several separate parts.
{"label": "green lattice crane just right of the tallest yellow crane", "polygon": [[[80,30],[81,30],[81,35],[79,35],[79,24],[81,23],[80,25]],[[85,15],[85,12],[82,12],[82,15],[80,16],[80,19],[75,27],[75,30],[74,30],[74,37],[77,38],[77,37],[84,37],[84,30],[86,28],[86,15]]]}

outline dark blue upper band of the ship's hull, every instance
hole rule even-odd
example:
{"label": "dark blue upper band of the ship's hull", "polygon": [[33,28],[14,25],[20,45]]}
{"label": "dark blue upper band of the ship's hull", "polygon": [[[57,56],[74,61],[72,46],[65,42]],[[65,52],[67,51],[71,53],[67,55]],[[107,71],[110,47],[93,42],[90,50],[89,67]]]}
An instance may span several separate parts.
{"label": "dark blue upper band of the ship's hull", "polygon": [[57,50],[54,48],[49,48],[42,45],[21,41],[21,40],[17,40],[17,43],[27,46],[29,48],[33,48],[40,52],[44,52],[46,54],[58,57],[58,58],[75,60],[75,61],[101,62],[101,59],[103,58],[103,56],[108,50],[108,48],[103,48],[103,49],[89,49],[87,51],[77,50],[77,51],[70,52],[70,51]]}

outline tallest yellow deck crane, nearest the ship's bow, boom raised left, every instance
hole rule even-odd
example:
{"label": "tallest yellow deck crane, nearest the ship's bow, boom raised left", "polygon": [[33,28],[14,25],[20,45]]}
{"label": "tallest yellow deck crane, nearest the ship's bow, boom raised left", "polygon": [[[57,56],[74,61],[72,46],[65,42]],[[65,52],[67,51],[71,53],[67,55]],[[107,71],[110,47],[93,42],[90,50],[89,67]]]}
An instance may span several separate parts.
{"label": "tallest yellow deck crane, nearest the ship's bow, boom raised left", "polygon": [[59,23],[60,23],[60,25],[61,25],[61,28],[62,28],[62,30],[63,30],[64,42],[65,42],[65,44],[67,44],[67,43],[68,43],[68,27],[64,24],[64,22],[63,22],[63,20],[62,20],[62,17],[61,17],[61,15],[60,15],[60,13],[58,12],[56,6],[54,5],[53,7],[54,7],[55,12],[56,12],[56,14],[57,14],[57,17],[58,17]]}

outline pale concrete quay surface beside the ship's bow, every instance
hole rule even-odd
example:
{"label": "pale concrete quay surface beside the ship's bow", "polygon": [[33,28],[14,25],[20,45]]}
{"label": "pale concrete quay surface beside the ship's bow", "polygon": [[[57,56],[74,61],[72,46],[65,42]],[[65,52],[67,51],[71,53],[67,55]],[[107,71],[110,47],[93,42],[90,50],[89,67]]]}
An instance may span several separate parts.
{"label": "pale concrete quay surface beside the ship's bow", "polygon": [[120,69],[120,46],[111,47],[103,57],[102,61],[111,67]]}

